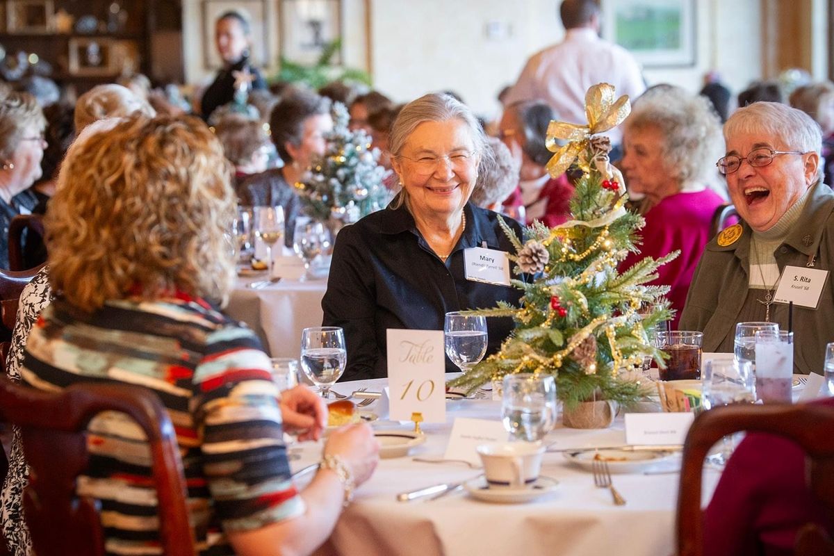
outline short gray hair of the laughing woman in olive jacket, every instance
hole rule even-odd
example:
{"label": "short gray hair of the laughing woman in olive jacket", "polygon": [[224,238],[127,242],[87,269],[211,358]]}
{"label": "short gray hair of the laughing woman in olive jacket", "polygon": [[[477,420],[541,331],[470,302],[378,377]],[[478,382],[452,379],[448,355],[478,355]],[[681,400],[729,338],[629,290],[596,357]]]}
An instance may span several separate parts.
{"label": "short gray hair of the laughing woman in olive jacket", "polygon": [[[813,151],[820,156],[817,177],[822,178],[822,130],[811,116],[782,103],[758,102],[739,108],[724,124],[727,143],[736,133],[766,135],[774,146],[802,153]],[[776,145],[776,143],[784,145]]]}

